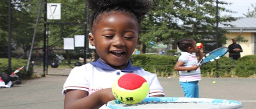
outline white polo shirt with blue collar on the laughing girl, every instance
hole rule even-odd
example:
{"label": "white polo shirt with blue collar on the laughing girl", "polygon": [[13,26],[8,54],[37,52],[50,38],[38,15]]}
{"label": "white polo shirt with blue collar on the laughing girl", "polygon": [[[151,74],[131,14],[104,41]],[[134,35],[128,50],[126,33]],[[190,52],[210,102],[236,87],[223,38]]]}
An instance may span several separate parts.
{"label": "white polo shirt with blue collar on the laughing girl", "polygon": [[156,74],[147,72],[141,67],[132,66],[131,62],[128,63],[125,69],[117,70],[99,59],[97,62],[90,62],[72,69],[63,85],[62,94],[65,95],[66,90],[73,89],[87,91],[90,96],[97,90],[112,88],[113,82],[127,73],[135,73],[146,79],[149,84],[148,96],[165,95]]}

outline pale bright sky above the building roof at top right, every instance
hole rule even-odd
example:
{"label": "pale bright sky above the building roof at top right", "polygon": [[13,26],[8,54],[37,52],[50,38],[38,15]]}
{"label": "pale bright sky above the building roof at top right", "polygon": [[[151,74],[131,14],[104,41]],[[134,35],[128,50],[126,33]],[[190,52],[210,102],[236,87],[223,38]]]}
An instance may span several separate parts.
{"label": "pale bright sky above the building roof at top right", "polygon": [[[245,17],[243,13],[246,14],[248,12],[248,8],[250,9],[250,11],[252,11],[253,7],[251,6],[251,4],[256,4],[256,0],[218,0],[218,1],[226,1],[227,3],[233,3],[230,5],[225,5],[224,7],[226,9],[236,11],[237,13],[227,13],[227,12],[220,13],[220,16],[231,15],[232,17]],[[223,7],[222,5],[219,5],[219,6]]]}

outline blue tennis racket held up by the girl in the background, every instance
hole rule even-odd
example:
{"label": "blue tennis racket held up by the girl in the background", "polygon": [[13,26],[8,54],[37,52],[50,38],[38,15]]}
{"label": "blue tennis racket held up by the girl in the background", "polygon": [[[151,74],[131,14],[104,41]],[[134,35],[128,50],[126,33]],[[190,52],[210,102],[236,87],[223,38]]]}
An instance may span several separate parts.
{"label": "blue tennis racket held up by the girl in the background", "polygon": [[[206,64],[208,62],[212,62],[215,60],[218,60],[222,56],[224,56],[229,51],[229,48],[227,47],[220,47],[217,49],[214,49],[213,51],[207,53],[197,64],[197,66],[201,66],[203,64]],[[190,72],[190,71],[188,71]]]}

